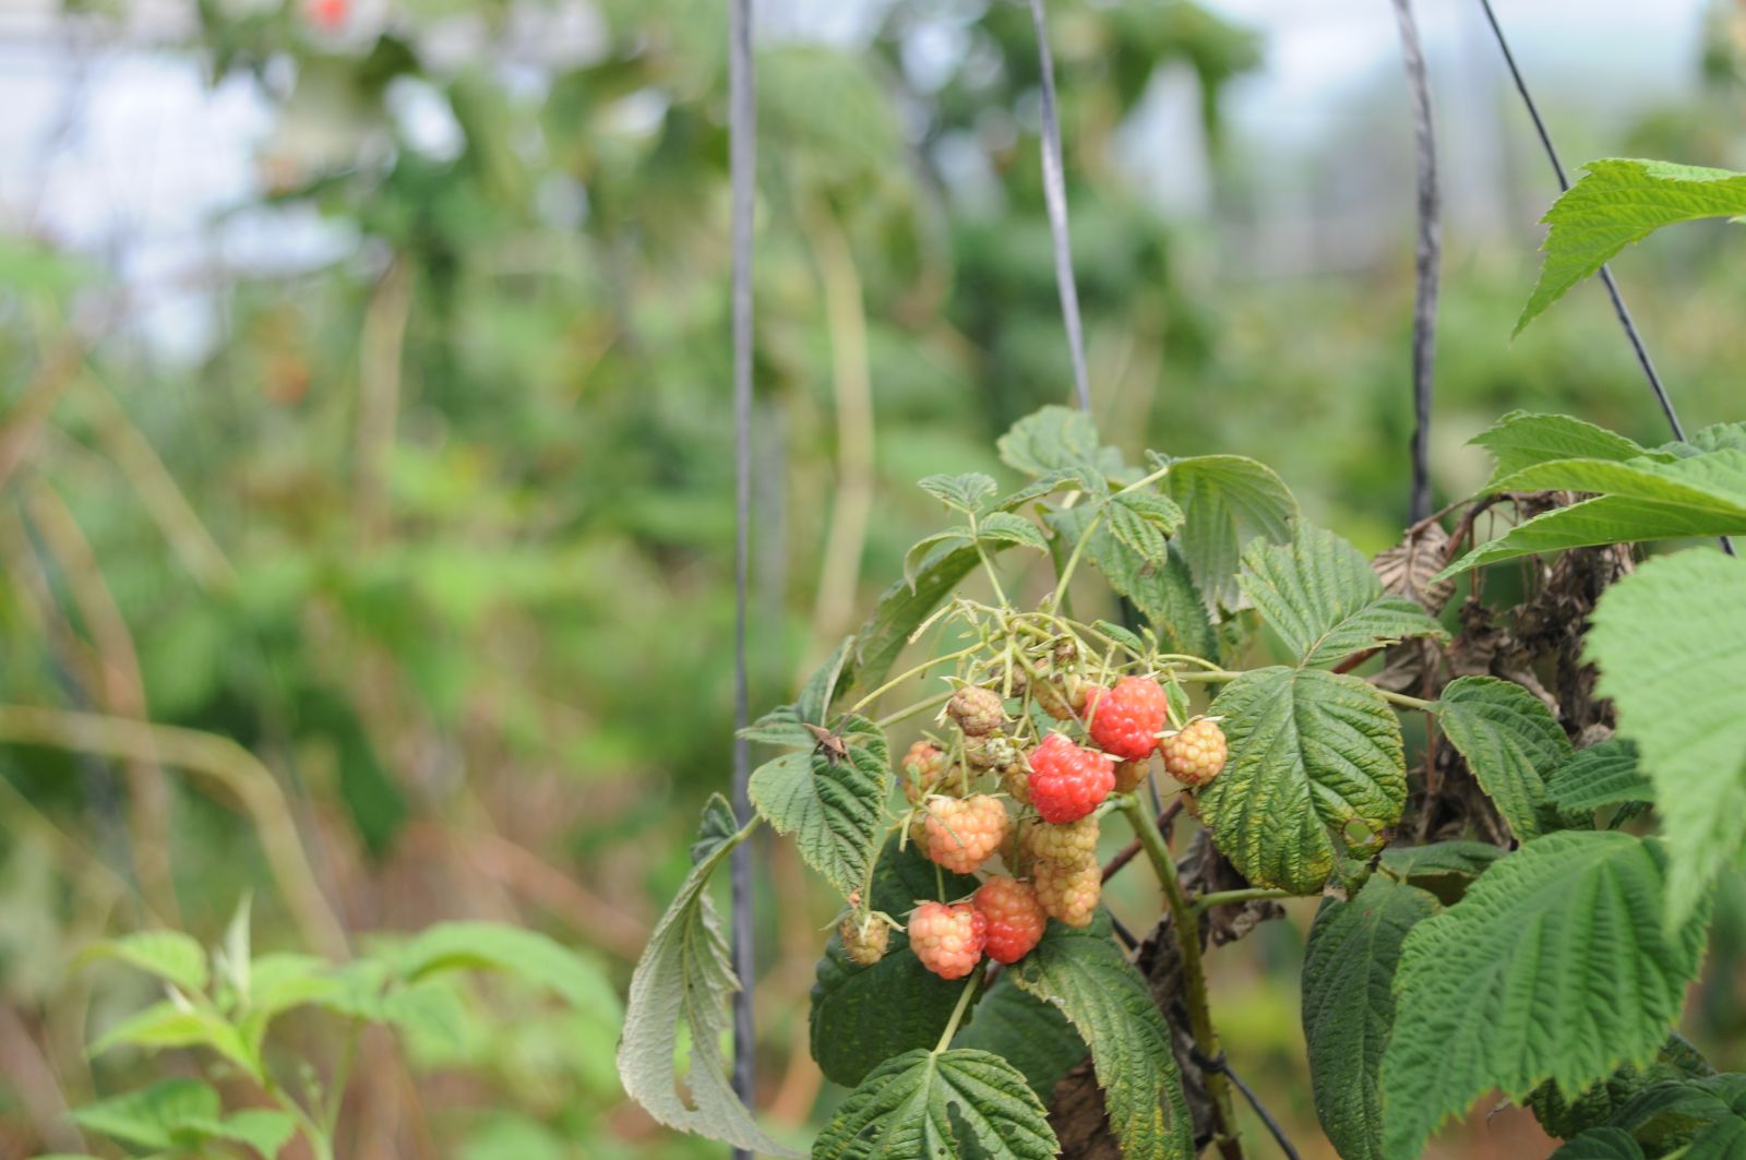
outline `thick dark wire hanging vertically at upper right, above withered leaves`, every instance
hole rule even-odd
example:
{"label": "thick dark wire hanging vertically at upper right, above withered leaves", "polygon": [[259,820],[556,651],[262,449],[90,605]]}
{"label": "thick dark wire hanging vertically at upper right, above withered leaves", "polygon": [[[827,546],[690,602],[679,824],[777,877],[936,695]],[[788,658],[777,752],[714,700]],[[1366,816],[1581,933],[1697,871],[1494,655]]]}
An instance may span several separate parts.
{"label": "thick dark wire hanging vertically at upper right, above withered leaves", "polygon": [[1418,246],[1413,292],[1413,498],[1407,522],[1430,515],[1430,400],[1437,358],[1437,281],[1442,269],[1442,194],[1437,187],[1437,131],[1430,115],[1430,80],[1419,44],[1413,0],[1393,0],[1400,24],[1400,54],[1413,94],[1413,140],[1418,152]]}

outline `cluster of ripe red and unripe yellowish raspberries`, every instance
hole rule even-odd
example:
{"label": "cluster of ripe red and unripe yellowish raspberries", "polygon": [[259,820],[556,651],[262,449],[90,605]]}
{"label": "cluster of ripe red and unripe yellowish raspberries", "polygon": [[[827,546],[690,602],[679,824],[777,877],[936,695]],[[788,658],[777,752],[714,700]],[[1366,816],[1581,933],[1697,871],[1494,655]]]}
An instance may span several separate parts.
{"label": "cluster of ripe red and unripe yellowish raspberries", "polygon": [[[966,685],[945,711],[962,734],[962,760],[917,741],[901,762],[903,790],[918,816],[911,839],[927,858],[960,875],[986,873],[995,856],[1009,870],[986,873],[966,901],[929,901],[910,915],[910,949],[943,978],[964,978],[983,954],[1020,961],[1049,919],[1091,922],[1102,891],[1093,814],[1112,791],[1145,781],[1152,753],[1189,788],[1206,784],[1224,767],[1219,723],[1198,718],[1172,730],[1170,701],[1147,676],[1123,676],[1110,687],[1072,678],[1035,681],[1030,695],[1056,720],[1083,722],[1088,744],[1051,732],[1027,751],[1006,732],[1006,699]],[[1002,797],[973,790],[983,774],[1021,807],[1016,825]],[[889,926],[854,901],[856,914],[838,933],[856,963],[876,963]]]}

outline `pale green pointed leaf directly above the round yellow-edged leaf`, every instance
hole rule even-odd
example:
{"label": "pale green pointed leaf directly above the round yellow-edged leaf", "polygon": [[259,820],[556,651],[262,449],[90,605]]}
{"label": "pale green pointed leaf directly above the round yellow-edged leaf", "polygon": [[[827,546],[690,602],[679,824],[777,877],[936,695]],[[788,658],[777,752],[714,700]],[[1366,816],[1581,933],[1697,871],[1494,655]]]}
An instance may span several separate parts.
{"label": "pale green pointed leaf directly above the round yellow-edged leaf", "polygon": [[1449,639],[1414,601],[1383,592],[1358,549],[1310,524],[1299,524],[1289,545],[1252,545],[1238,585],[1299,662],[1311,667],[1409,636]]}

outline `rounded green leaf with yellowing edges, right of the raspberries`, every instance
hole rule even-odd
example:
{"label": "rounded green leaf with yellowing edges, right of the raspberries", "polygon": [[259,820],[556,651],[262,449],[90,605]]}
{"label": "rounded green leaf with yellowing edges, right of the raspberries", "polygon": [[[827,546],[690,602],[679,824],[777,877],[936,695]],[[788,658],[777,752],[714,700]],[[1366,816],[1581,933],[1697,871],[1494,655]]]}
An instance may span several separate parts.
{"label": "rounded green leaf with yellowing edges, right of the raspberries", "polygon": [[1231,755],[1200,791],[1213,844],[1255,886],[1313,894],[1381,844],[1407,800],[1400,722],[1355,676],[1254,669],[1212,702]]}

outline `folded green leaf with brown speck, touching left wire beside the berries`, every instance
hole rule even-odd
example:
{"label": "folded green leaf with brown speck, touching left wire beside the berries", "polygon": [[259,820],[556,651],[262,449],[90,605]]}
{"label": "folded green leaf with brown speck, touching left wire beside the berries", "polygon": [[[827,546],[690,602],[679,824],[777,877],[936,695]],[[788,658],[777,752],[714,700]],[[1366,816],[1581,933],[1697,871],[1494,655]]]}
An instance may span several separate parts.
{"label": "folded green leaf with brown speck, touching left wire beside the berries", "polygon": [[777,833],[793,833],[807,865],[847,898],[866,880],[892,774],[878,725],[843,716],[835,732],[847,756],[822,746],[786,753],[753,770],[749,790],[758,812]]}

